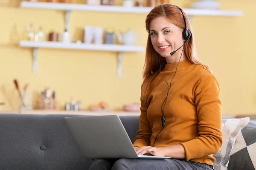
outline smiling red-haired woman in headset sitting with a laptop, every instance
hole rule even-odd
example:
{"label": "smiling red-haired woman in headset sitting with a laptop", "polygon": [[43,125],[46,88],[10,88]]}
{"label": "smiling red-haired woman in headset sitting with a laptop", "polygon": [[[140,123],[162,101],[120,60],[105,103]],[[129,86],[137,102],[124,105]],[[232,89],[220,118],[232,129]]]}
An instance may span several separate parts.
{"label": "smiling red-haired woman in headset sitting with a laptop", "polygon": [[91,170],[212,170],[222,144],[219,85],[197,57],[182,9],[162,4],[146,20],[138,155],[172,159],[98,160]]}

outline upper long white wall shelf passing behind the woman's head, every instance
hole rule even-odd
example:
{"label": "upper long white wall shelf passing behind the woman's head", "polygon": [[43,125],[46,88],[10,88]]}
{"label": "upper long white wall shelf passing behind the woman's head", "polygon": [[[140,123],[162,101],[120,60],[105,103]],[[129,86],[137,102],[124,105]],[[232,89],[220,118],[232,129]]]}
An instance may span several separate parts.
{"label": "upper long white wall shelf passing behind the woman's head", "polygon": [[[148,14],[151,7],[132,7],[126,8],[123,6],[95,6],[86,4],[67,4],[67,3],[44,3],[44,2],[28,2],[23,1],[20,4],[21,8],[40,8],[54,9],[64,11],[101,11],[101,12],[121,12],[121,13],[141,13]],[[242,16],[242,11],[225,11],[225,10],[207,10],[184,8],[185,13],[189,16]]]}

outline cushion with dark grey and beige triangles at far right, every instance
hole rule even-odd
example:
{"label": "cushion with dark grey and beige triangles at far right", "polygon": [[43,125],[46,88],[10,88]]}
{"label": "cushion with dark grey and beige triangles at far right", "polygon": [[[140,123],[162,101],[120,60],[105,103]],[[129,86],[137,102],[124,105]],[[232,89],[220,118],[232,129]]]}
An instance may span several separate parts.
{"label": "cushion with dark grey and beige triangles at far right", "polygon": [[236,139],[230,154],[228,170],[236,169],[256,169],[256,125],[245,126]]}

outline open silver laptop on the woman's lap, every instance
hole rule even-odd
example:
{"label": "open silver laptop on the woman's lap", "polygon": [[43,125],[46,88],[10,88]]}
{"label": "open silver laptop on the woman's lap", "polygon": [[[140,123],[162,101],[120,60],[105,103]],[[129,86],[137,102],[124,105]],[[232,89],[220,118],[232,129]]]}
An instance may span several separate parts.
{"label": "open silver laptop on the woman's lap", "polygon": [[137,155],[117,115],[64,117],[70,132],[88,159],[169,159]]}

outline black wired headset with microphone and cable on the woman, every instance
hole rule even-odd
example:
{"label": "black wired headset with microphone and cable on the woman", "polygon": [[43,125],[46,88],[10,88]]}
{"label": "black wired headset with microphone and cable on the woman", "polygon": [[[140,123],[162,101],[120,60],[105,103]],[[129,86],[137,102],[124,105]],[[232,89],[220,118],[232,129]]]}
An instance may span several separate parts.
{"label": "black wired headset with microphone and cable on the woman", "polygon": [[[173,6],[175,6],[175,5],[173,5]],[[186,22],[186,17],[185,17],[185,15],[183,14],[182,9],[181,9],[180,7],[178,7],[178,6],[176,6],[176,7],[180,9],[180,11],[181,11],[181,13],[182,13],[182,16],[183,16],[183,19],[184,19],[184,23],[185,23],[185,29],[184,29],[183,32],[182,32],[182,35],[183,35],[183,38],[184,38],[185,42],[183,43],[183,45],[180,46],[180,48],[181,48],[181,47],[183,47],[183,46],[188,42],[189,38],[191,37],[191,32],[188,30],[187,22]],[[170,53],[171,56],[172,56],[173,54],[175,54],[176,51],[178,51],[180,48],[178,48],[178,49],[175,50],[175,51],[172,51],[172,52]],[[184,48],[183,48],[183,49],[184,49]],[[183,53],[183,49],[182,49],[182,52],[181,52],[181,55],[180,55],[180,59],[181,59],[181,56],[182,56],[182,53]],[[176,71],[175,71],[174,76],[172,77],[172,80],[173,80],[173,78],[174,78],[175,75],[176,75],[177,68],[178,68],[178,65],[179,65],[179,63],[180,63],[180,59],[179,59],[179,62],[177,63]],[[159,72],[160,72],[160,74],[161,74],[161,62],[160,62],[160,58],[159,58],[159,63],[160,63]],[[161,74],[161,76],[162,76],[162,77],[165,79],[165,81],[166,81],[166,78],[165,78],[162,74]],[[166,84],[167,84],[167,95],[166,95],[166,98],[165,98],[165,100],[163,101],[163,104],[162,104],[162,106],[161,106],[161,111],[162,111],[162,118],[161,118],[161,121],[162,121],[162,127],[163,127],[163,128],[165,127],[165,117],[164,117],[163,110],[164,110],[165,105],[166,105],[166,102],[167,102],[169,90],[171,89],[172,80],[171,80],[171,82],[170,82],[170,87],[169,87],[168,82],[166,81]],[[163,128],[162,128],[162,130],[163,130]],[[160,132],[161,132],[162,130],[160,130]],[[160,133],[160,132],[159,132],[159,133]],[[159,133],[157,134],[157,136],[159,135]],[[156,140],[157,140],[157,136],[156,136],[156,139],[155,139],[155,141],[154,141],[154,144],[155,144],[155,142],[156,142]],[[154,146],[154,144],[153,144],[152,146]]]}

